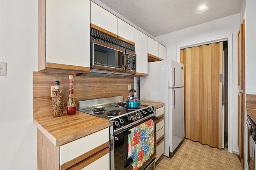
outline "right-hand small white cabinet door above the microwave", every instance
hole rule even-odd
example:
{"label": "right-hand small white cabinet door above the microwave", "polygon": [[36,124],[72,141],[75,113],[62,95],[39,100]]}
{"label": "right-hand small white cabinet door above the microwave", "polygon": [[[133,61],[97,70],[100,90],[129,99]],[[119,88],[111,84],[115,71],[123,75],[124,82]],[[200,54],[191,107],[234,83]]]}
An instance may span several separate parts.
{"label": "right-hand small white cabinet door above the microwave", "polygon": [[135,42],[135,28],[120,18],[117,18],[117,35],[118,39],[130,44],[134,44]]}

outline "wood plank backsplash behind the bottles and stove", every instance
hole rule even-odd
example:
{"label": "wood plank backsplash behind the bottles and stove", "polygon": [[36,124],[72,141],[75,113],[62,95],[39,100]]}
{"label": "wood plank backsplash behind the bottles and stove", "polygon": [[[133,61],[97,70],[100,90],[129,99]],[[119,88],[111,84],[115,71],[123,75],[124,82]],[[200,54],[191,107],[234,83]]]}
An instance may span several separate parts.
{"label": "wood plank backsplash behind the bottles and stove", "polygon": [[[50,86],[54,82],[60,82],[60,89],[63,91],[64,115],[69,94],[68,74],[33,72],[33,116],[44,117],[52,115],[52,97]],[[78,101],[123,96],[126,101],[129,91],[128,84],[133,88],[133,77],[109,78],[76,76],[74,74],[74,95],[77,108]]]}

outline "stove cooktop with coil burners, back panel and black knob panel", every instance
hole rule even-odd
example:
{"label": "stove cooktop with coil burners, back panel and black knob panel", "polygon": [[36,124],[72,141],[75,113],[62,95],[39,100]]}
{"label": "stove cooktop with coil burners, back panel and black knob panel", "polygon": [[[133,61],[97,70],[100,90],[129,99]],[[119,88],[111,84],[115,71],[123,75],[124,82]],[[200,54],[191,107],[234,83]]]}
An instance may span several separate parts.
{"label": "stove cooktop with coil burners, back panel and black knob panel", "polygon": [[110,135],[153,117],[156,113],[153,106],[125,107],[123,96],[79,101],[78,110],[109,120]]}

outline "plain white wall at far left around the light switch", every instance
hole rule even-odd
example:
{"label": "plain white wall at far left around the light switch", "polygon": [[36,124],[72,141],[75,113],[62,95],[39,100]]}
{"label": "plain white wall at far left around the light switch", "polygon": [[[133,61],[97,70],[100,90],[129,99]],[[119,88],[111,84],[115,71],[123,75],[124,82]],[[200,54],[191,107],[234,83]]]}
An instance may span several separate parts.
{"label": "plain white wall at far left around the light switch", "polygon": [[32,72],[37,70],[37,0],[0,0],[0,169],[36,170]]}

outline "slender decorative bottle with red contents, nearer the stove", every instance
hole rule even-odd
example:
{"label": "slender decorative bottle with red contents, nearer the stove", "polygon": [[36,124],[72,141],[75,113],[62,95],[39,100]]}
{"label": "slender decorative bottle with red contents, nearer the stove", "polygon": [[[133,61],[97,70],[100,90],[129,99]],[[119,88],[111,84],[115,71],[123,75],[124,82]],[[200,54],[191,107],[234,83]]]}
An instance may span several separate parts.
{"label": "slender decorative bottle with red contents, nearer the stove", "polygon": [[76,100],[74,96],[74,89],[73,89],[73,81],[74,76],[73,74],[69,74],[69,96],[68,96],[68,103],[67,103],[67,114],[74,115],[76,114]]}

